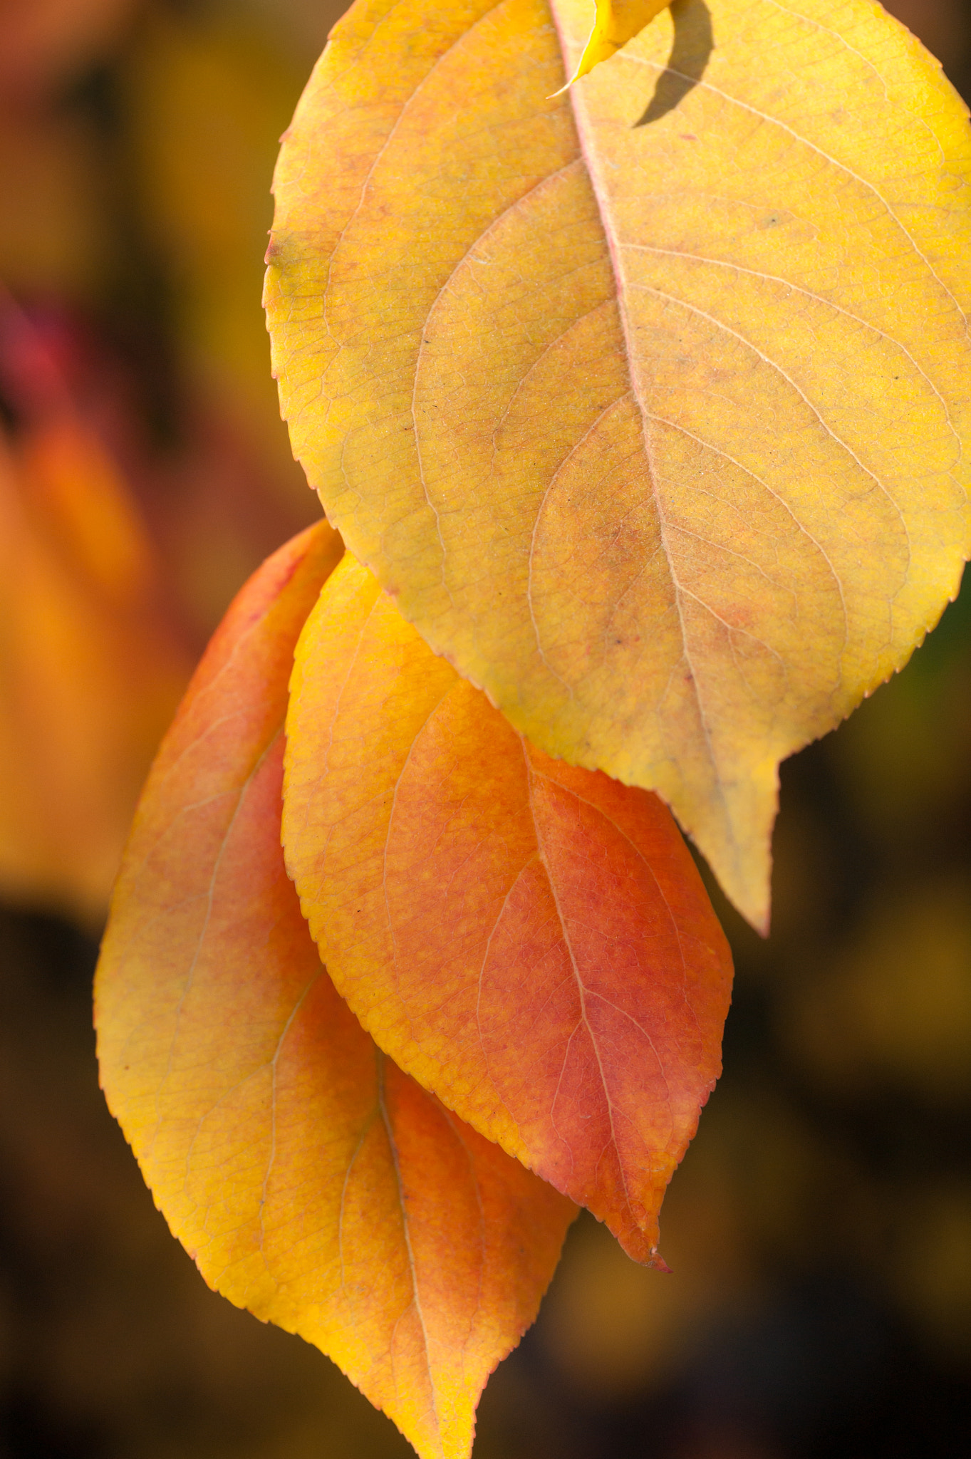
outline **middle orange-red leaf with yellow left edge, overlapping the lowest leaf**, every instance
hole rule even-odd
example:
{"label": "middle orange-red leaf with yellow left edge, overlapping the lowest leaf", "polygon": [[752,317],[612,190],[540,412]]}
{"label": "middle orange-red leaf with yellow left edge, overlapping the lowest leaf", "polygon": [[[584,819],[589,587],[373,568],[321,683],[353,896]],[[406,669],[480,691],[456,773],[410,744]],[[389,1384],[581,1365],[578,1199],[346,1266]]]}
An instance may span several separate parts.
{"label": "middle orange-red leaf with yellow left edge, overlapping the lowest leaf", "polygon": [[655,1259],[730,989],[669,811],[531,748],[350,556],[300,636],[286,763],[287,864],[364,1027]]}

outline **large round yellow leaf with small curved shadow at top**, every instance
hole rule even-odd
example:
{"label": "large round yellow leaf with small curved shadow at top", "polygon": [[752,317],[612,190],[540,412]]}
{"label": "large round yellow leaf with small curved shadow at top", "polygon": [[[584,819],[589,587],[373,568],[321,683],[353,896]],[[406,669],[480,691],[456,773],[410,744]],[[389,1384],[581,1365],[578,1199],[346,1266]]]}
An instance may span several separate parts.
{"label": "large round yellow leaf with small curved shadow at top", "polygon": [[869,0],[359,0],[284,140],[295,451],[427,643],[768,918],[777,763],[968,552],[967,111]]}

